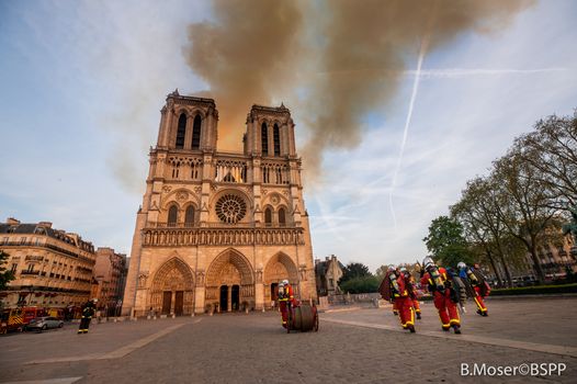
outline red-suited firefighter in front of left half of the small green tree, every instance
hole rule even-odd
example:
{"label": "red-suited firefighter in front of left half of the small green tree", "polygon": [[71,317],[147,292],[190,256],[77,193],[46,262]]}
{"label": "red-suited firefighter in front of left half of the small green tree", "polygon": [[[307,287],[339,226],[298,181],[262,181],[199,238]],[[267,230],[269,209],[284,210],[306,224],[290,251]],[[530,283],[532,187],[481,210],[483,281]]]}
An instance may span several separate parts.
{"label": "red-suited firefighter in front of left half of the small green tree", "polygon": [[453,328],[455,334],[461,334],[461,319],[456,308],[460,296],[455,294],[446,270],[437,267],[429,257],[425,258],[422,264],[425,273],[421,278],[421,285],[427,286],[433,295],[434,307],[439,310],[442,329],[449,331]]}

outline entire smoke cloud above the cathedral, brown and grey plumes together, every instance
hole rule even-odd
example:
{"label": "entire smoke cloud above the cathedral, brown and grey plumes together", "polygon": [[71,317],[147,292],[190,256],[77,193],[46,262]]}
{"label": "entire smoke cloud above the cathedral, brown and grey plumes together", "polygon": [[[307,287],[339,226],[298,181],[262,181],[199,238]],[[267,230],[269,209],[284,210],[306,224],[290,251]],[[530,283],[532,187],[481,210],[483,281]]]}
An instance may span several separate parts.
{"label": "entire smoke cloud above the cathedral, brown and grey plumes together", "polygon": [[184,49],[216,99],[225,146],[239,142],[252,103],[305,90],[299,104],[309,140],[302,154],[315,177],[326,149],[360,144],[362,117],[395,95],[423,41],[431,52],[465,32],[497,33],[533,3],[215,0],[215,21],[192,24]]}

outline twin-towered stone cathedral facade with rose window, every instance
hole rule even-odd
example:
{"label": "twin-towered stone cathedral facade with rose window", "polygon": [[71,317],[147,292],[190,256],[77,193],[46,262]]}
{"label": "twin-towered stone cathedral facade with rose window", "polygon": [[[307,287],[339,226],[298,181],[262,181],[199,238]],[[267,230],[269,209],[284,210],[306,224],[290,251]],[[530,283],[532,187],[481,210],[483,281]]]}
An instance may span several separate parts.
{"label": "twin-towered stone cathedral facade with rose window", "polygon": [[137,213],[125,315],[262,309],[287,279],[316,300],[294,123],[252,105],[242,153],[216,150],[212,99],[167,97]]}

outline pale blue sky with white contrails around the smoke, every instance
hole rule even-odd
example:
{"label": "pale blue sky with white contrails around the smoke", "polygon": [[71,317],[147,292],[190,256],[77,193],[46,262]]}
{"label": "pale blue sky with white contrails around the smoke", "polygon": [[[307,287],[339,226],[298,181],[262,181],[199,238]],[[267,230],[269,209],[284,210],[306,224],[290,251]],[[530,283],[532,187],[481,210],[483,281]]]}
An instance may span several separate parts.
{"label": "pale blue sky with white contrails around the smoke", "polygon": [[[488,33],[410,43],[394,90],[362,111],[359,138],[327,146],[305,178],[315,258],[373,271],[422,260],[430,222],[467,180],[539,118],[577,108],[576,16],[575,1],[540,1]],[[215,87],[190,63],[190,25],[217,19],[201,1],[0,0],[0,219],[53,222],[129,255],[166,95]],[[302,20],[309,34],[313,22]],[[313,60],[290,65],[323,76]],[[323,97],[295,81],[270,95],[280,102],[304,153]],[[240,149],[242,127],[227,128],[222,142]]]}

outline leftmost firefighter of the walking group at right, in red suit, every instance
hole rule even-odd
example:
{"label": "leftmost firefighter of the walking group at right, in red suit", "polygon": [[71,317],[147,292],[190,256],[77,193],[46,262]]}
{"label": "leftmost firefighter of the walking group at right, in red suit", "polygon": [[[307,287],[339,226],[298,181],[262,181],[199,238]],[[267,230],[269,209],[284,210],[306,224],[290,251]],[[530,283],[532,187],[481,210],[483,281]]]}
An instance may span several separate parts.
{"label": "leftmost firefighter of the walking group at right, in red suit", "polygon": [[398,269],[391,267],[388,269],[380,290],[384,300],[393,300],[398,309],[398,317],[403,329],[415,332],[415,310],[412,309],[412,285],[407,276]]}

